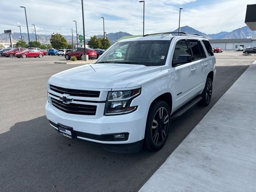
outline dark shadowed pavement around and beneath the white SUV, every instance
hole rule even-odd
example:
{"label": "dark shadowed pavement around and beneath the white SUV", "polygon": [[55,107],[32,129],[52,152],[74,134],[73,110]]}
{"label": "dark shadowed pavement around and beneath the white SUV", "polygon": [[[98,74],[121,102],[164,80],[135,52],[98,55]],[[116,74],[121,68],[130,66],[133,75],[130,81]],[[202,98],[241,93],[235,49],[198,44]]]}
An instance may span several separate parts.
{"label": "dark shadowed pavement around and beneath the white SUV", "polygon": [[0,191],[138,191],[247,67],[218,66],[210,105],[172,121],[158,152],[108,152],[61,136],[46,116],[17,122],[0,134]]}

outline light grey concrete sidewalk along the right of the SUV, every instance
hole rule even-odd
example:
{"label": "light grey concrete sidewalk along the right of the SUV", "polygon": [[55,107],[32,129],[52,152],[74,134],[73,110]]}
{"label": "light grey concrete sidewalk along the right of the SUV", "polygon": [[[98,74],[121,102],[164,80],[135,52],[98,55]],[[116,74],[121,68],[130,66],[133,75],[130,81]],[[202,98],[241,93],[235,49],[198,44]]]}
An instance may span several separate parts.
{"label": "light grey concrete sidewalk along the right of the SUV", "polygon": [[139,192],[256,191],[256,62]]}

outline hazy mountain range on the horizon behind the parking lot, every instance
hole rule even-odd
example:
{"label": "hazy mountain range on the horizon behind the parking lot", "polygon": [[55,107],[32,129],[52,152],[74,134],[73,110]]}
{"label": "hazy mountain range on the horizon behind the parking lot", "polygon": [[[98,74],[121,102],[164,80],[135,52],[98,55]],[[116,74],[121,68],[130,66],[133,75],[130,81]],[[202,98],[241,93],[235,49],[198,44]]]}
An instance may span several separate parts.
{"label": "hazy mountain range on the horizon behind the parking lot", "polygon": [[[238,28],[236,30],[233,30],[232,32],[219,32],[217,34],[206,34],[203,32],[200,32],[190,26],[183,26],[180,28],[181,32],[185,32],[186,34],[198,34],[200,36],[204,36],[205,38],[208,39],[239,39],[239,38],[247,38],[252,34],[252,31],[248,26],[244,26],[242,28]],[[173,32],[178,32],[178,29],[174,30]],[[130,36],[132,34],[126,33],[126,32],[117,32],[117,37],[116,33],[108,33],[107,37],[109,40],[113,43],[115,42],[116,38],[122,38],[123,36]],[[24,40],[28,42],[28,35],[27,33],[22,33],[22,36],[24,36]],[[30,33],[30,40],[35,41],[35,34]],[[50,37],[51,35],[44,35],[44,34],[38,34],[38,39],[39,42],[42,44],[50,44]],[[71,44],[72,42],[72,36],[71,35],[64,35],[68,43]],[[102,38],[103,35],[97,35],[97,37]],[[13,33],[12,34],[12,42],[16,43],[18,40],[20,40],[20,33]],[[76,42],[76,36],[73,37],[74,43]],[[89,39],[86,39],[86,41]],[[0,43],[9,43],[9,35],[8,34],[0,34]]]}

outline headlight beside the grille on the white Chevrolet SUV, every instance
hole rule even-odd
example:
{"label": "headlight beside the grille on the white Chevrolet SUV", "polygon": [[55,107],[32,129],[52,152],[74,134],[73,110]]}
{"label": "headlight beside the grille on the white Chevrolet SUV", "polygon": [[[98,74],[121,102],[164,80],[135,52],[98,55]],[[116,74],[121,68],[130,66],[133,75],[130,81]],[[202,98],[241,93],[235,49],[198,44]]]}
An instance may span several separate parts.
{"label": "headlight beside the grille on the white Chevrolet SUV", "polygon": [[134,98],[140,95],[140,92],[141,88],[108,92],[104,114],[120,115],[133,112],[137,106],[131,107],[130,104]]}

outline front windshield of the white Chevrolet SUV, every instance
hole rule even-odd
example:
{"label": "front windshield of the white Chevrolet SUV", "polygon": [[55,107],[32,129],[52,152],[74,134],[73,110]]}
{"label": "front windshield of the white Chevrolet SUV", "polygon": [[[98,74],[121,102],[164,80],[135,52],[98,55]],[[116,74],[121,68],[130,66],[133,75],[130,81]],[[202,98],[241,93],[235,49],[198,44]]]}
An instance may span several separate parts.
{"label": "front windshield of the white Chevrolet SUV", "polygon": [[160,66],[166,62],[169,47],[170,40],[118,42],[108,49],[96,63]]}

